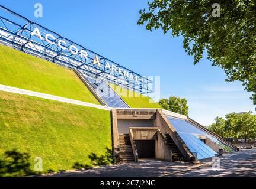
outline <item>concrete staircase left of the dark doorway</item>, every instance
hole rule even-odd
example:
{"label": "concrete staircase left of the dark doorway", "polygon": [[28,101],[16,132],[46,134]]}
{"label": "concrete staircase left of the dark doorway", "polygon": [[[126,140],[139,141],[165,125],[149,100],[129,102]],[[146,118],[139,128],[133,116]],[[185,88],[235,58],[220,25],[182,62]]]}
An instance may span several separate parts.
{"label": "concrete staircase left of the dark doorway", "polygon": [[120,161],[121,162],[134,162],[133,149],[130,143],[129,134],[119,135],[120,146]]}

